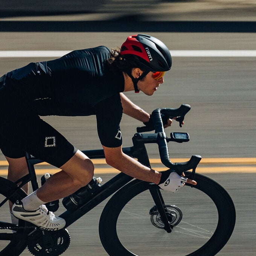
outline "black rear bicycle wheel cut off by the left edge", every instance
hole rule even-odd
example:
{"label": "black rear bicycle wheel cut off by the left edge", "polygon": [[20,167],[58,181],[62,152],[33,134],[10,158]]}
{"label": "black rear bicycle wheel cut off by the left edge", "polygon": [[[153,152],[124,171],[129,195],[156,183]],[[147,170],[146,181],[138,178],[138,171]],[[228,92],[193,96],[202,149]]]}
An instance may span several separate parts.
{"label": "black rear bicycle wheel cut off by the left edge", "polygon": [[[26,221],[19,220],[19,225],[15,226],[11,223],[11,216],[9,210],[9,203],[6,198],[9,198],[12,203],[16,200],[21,200],[27,194],[24,190],[19,189],[13,194],[17,185],[13,182],[0,177],[0,255],[20,255],[26,248],[26,234],[25,229],[19,228],[26,227]],[[13,194],[13,195],[12,195]],[[6,201],[5,201],[6,200]],[[12,232],[11,228],[16,232]]]}

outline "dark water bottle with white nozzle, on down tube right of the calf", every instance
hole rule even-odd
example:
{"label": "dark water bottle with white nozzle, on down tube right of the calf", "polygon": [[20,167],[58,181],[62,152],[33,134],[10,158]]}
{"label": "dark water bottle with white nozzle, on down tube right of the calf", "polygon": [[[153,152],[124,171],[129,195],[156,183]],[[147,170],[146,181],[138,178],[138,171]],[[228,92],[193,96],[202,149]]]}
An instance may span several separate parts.
{"label": "dark water bottle with white nozzle, on down tube right of the calf", "polygon": [[63,198],[62,204],[67,210],[74,210],[79,205],[85,203],[94,192],[96,192],[101,186],[102,178],[93,177],[93,179],[81,189],[78,189],[75,193]]}

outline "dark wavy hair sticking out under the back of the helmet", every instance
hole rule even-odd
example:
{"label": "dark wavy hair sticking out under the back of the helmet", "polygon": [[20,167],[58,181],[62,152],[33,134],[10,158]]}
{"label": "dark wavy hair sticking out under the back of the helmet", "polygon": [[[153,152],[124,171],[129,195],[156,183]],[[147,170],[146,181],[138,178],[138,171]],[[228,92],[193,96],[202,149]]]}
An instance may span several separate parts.
{"label": "dark wavy hair sticking out under the back of the helmet", "polygon": [[113,73],[120,71],[131,73],[131,70],[136,67],[141,69],[143,72],[147,71],[145,66],[142,66],[139,62],[123,58],[120,55],[120,48],[111,49],[110,58],[108,59],[108,66]]}

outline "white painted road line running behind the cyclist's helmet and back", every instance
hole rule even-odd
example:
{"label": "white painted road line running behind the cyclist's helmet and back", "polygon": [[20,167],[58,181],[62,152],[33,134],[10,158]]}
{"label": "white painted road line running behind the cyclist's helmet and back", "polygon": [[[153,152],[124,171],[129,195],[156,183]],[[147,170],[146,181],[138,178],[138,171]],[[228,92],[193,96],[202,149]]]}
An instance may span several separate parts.
{"label": "white painted road line running behind the cyclist's helmet and back", "polygon": [[[0,51],[0,58],[61,57],[71,50]],[[256,50],[171,50],[175,57],[256,57]]]}

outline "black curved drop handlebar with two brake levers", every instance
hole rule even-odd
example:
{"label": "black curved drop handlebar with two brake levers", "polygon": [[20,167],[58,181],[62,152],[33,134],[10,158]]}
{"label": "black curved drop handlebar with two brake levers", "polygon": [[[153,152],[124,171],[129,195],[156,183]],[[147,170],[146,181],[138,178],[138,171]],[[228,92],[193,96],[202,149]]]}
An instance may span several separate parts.
{"label": "black curved drop handlebar with two brake levers", "polygon": [[[190,110],[190,105],[187,104],[182,104],[179,108],[157,108],[152,112],[152,120],[154,122],[154,127],[155,127],[155,136],[156,136],[156,141],[158,144],[158,150],[160,153],[160,158],[161,162],[168,167],[169,169],[172,169],[176,171],[178,174],[182,174],[184,171],[188,171],[190,169],[193,169],[192,175],[195,174],[195,168],[197,167],[198,163],[201,160],[200,155],[192,155],[189,161],[183,162],[183,163],[172,163],[170,161],[169,157],[169,151],[168,151],[168,146],[167,146],[167,137],[164,132],[163,128],[163,121],[161,114],[165,114],[166,116],[171,117],[180,117],[178,120],[180,124],[184,120],[184,116],[186,113]],[[145,126],[146,127],[146,126]],[[138,129],[139,128],[139,129]],[[142,132],[142,128],[144,127],[138,127],[137,131],[139,130]],[[146,135],[146,134],[145,134]],[[136,139],[142,139],[143,134],[137,133],[135,134]],[[151,136],[152,137],[152,136]]]}

